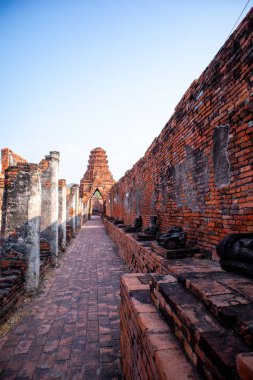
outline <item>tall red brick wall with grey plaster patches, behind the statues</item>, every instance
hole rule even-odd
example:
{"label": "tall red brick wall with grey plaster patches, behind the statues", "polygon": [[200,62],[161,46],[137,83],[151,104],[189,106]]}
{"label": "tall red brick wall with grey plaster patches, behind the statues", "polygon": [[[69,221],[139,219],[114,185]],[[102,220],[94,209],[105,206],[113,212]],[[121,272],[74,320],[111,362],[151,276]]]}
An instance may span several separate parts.
{"label": "tall red brick wall with grey plaster patches, behind the statues", "polygon": [[[195,80],[145,156],[107,198],[107,215],[162,231],[181,225],[215,253],[228,233],[253,231],[253,10]],[[145,133],[145,132],[144,132]]]}

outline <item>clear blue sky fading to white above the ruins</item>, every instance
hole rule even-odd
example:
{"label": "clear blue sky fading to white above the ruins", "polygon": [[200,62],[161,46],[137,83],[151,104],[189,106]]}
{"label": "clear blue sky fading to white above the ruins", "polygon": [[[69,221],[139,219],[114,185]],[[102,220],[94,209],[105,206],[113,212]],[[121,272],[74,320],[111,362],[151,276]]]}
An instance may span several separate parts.
{"label": "clear blue sky fading to white above the ruins", "polygon": [[58,150],[60,177],[78,183],[100,146],[118,180],[159,135],[245,3],[0,0],[0,147],[30,162]]}

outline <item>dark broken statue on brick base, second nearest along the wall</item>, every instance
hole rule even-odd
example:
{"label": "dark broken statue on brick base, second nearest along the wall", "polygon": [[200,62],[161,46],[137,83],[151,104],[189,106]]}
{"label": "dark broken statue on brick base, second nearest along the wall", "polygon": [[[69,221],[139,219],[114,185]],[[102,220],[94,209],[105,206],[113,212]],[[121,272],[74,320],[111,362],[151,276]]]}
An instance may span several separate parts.
{"label": "dark broken statue on brick base, second nearest along the wall", "polygon": [[166,249],[182,249],[186,246],[187,234],[182,227],[174,226],[168,233],[157,236],[157,241]]}

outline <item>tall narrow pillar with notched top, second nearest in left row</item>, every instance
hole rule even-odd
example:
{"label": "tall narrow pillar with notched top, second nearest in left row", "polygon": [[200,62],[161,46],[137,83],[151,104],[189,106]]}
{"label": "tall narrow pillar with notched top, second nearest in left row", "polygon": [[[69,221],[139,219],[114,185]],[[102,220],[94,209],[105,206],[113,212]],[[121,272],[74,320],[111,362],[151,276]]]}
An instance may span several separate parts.
{"label": "tall narrow pillar with notched top, second nearest in left row", "polygon": [[58,257],[58,172],[59,152],[50,152],[41,161],[42,204],[41,239],[50,244],[51,264],[57,264]]}

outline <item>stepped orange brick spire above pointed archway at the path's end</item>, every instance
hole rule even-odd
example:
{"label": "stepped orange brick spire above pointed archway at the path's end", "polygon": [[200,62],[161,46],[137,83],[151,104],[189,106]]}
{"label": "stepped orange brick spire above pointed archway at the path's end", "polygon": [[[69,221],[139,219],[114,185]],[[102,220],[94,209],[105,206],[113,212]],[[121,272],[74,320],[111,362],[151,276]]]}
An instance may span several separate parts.
{"label": "stepped orange brick spire above pointed archway at the path's end", "polygon": [[95,148],[90,152],[87,170],[80,181],[80,196],[86,203],[98,190],[103,200],[115,183],[108,166],[106,151]]}

